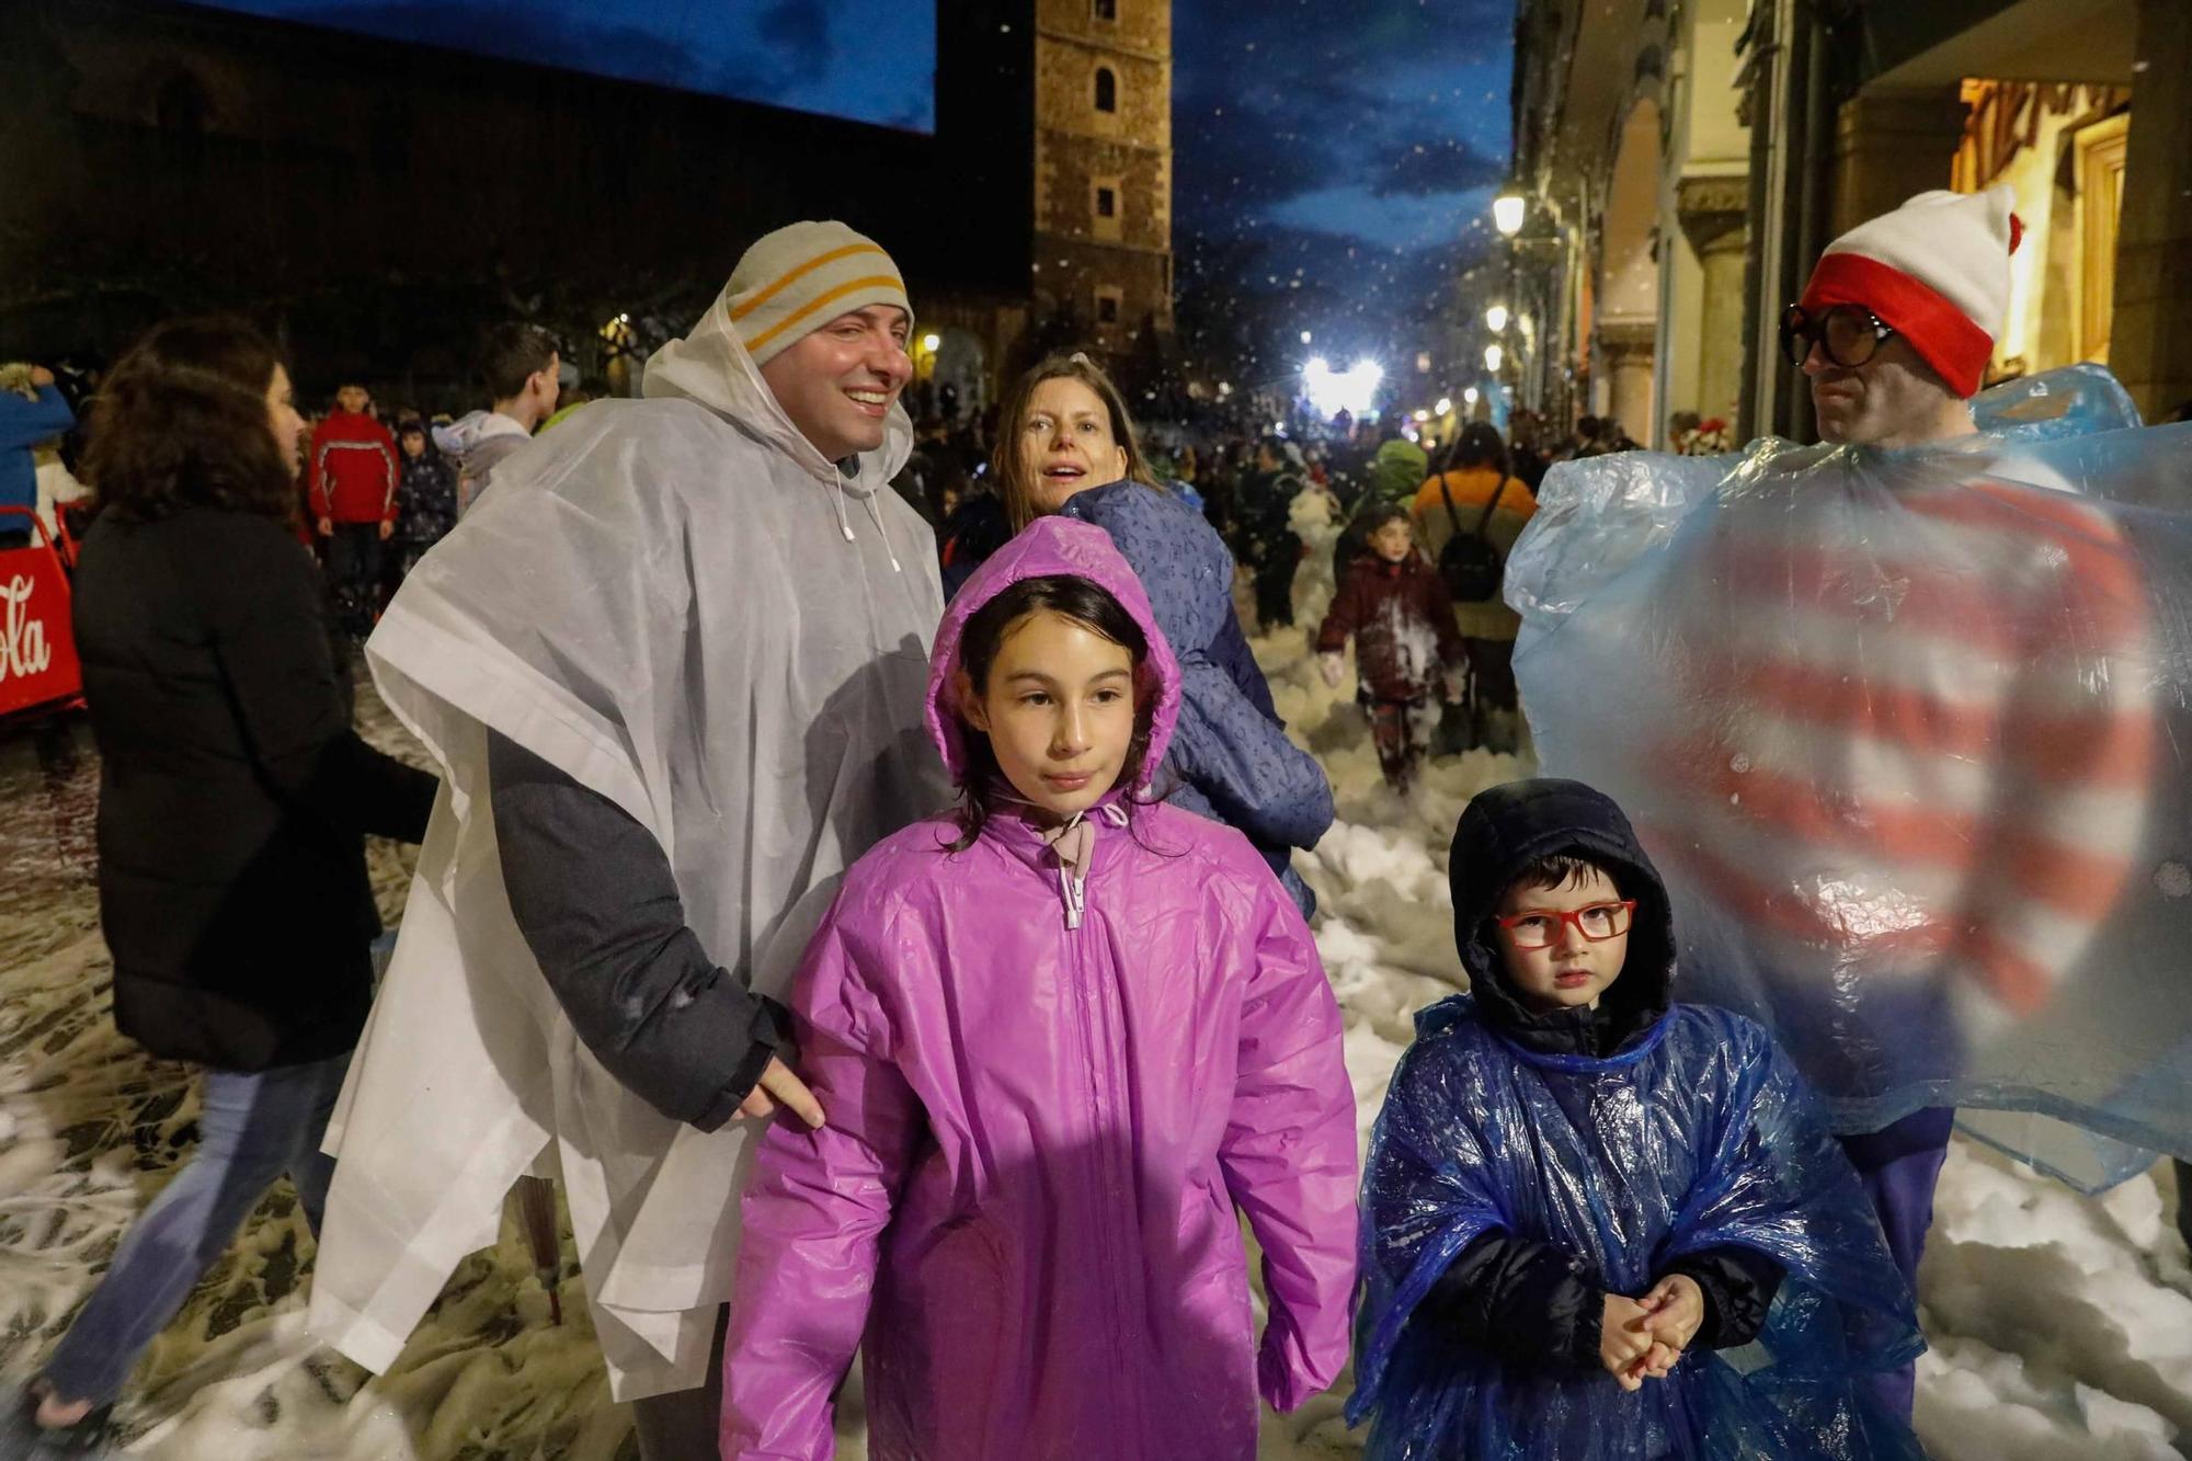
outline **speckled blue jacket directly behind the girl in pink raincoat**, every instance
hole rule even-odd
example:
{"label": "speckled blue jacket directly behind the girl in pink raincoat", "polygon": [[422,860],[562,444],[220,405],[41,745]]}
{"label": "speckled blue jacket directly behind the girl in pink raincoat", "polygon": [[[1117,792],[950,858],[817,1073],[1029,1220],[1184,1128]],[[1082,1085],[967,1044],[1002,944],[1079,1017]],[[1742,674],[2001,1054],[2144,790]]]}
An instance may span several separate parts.
{"label": "speckled blue jacket directly behind the girl in pink raincoat", "polygon": [[1063,516],[1109,533],[1179,656],[1168,801],[1245,831],[1306,917],[1315,899],[1293,873],[1289,849],[1315,847],[1333,825],[1333,788],[1271,709],[1241,636],[1225,540],[1192,507],[1144,483],[1078,491]]}

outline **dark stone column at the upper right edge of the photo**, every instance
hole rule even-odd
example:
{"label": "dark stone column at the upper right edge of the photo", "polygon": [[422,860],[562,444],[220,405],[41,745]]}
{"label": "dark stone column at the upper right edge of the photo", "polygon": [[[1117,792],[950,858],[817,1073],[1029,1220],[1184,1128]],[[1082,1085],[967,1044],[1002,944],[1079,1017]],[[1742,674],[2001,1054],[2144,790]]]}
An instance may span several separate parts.
{"label": "dark stone column at the upper right edge of the photo", "polygon": [[2192,399],[2192,7],[2139,0],[2109,369],[2159,421]]}

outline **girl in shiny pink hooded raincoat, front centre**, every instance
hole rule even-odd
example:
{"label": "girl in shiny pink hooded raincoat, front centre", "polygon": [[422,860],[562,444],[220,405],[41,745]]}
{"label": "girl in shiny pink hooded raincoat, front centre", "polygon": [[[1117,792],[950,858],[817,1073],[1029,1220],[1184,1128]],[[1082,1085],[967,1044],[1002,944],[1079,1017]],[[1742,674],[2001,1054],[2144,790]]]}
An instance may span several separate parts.
{"label": "girl in shiny pink hooded raincoat, front centre", "polygon": [[[958,814],[879,842],[794,983],[829,1125],[745,1196],[723,1457],[1256,1454],[1348,1351],[1355,1099],[1271,869],[1146,792],[1179,667],[1103,529],[1043,518],[951,601]],[[1236,1209],[1263,1246],[1256,1349]]]}

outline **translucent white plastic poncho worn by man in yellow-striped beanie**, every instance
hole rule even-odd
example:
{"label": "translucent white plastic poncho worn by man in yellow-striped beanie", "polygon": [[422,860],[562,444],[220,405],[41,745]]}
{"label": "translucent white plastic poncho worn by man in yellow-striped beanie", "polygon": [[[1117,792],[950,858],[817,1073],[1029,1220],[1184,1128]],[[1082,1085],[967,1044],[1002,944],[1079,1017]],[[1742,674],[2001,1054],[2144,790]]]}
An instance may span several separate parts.
{"label": "translucent white plastic poncho worn by man in yellow-striped beanie", "polygon": [[842,476],[723,301],[498,469],[366,645],[443,774],[403,930],[351,1064],[311,1327],[386,1369],[530,1169],[570,1200],[618,1400],[704,1380],[756,1123],[704,1134],[579,1044],[511,919],[487,726],[669,851],[708,954],[776,994],[837,875],[949,799],[921,733],[943,592],[888,489],[912,428]]}

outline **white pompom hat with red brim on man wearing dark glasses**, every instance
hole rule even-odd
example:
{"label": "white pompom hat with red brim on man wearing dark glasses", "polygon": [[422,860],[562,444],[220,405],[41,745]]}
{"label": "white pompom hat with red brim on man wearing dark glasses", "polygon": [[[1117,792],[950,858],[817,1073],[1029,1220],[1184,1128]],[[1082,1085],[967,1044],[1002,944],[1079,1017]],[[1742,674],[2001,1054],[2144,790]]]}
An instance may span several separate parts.
{"label": "white pompom hat with red brim on man wearing dark glasses", "polygon": [[1951,390],[1977,395],[2010,312],[2010,254],[2025,230],[2012,202],[2008,184],[1918,193],[1835,239],[1800,303],[1811,314],[1863,305]]}

